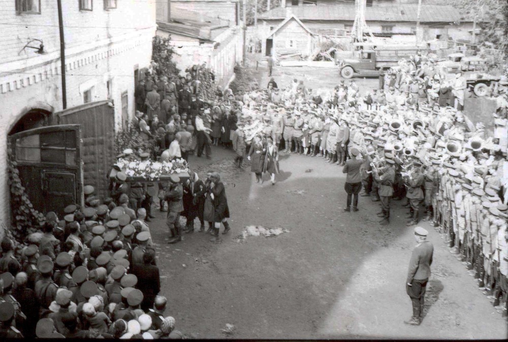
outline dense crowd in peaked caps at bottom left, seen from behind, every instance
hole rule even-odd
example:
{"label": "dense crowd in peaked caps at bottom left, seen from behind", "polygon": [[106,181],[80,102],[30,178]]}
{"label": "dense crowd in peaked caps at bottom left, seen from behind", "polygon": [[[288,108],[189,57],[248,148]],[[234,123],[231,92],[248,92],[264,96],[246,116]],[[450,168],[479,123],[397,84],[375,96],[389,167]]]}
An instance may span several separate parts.
{"label": "dense crowd in peaked caps at bottom left, seen from behind", "polygon": [[85,207],[67,206],[63,220],[48,212],[18,248],[3,239],[0,336],[182,338],[159,295],[144,208],[136,215],[127,195],[117,206],[84,188]]}

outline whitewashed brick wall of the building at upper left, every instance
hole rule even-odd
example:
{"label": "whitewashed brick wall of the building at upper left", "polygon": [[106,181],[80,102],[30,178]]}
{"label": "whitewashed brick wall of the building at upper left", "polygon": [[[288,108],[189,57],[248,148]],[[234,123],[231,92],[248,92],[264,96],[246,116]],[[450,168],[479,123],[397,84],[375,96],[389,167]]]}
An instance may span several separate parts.
{"label": "whitewashed brick wall of the building at upper left", "polygon": [[[128,111],[134,114],[134,69],[149,66],[155,34],[152,0],[118,0],[118,8],[105,11],[101,0],[93,0],[93,11],[79,11],[77,0],[62,1],[66,25],[67,106],[83,104],[83,91],[93,86],[92,101],[107,99],[107,81],[112,81],[111,100],[115,122],[121,125],[121,95],[128,94]],[[0,161],[7,160],[7,135],[29,109],[62,109],[59,36],[56,1],[41,0],[41,14],[19,15],[14,0],[0,0]],[[54,25],[53,25],[54,24]],[[46,25],[46,26],[43,26]],[[51,26],[53,25],[53,26]],[[85,26],[70,27],[70,26]],[[93,27],[92,27],[93,26]],[[130,27],[121,29],[120,27]],[[147,27],[143,29],[144,27]],[[7,33],[6,33],[7,32]],[[46,54],[19,50],[26,37],[44,41]],[[8,172],[0,167],[0,222],[10,223]],[[0,229],[0,236],[2,231]]]}

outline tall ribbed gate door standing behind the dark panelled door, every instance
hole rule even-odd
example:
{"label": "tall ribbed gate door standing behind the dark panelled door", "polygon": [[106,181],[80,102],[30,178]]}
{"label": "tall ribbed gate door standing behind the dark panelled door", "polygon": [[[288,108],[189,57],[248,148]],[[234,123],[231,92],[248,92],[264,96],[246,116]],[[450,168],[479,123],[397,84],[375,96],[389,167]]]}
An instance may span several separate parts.
{"label": "tall ribbed gate door standing behind the dark panelled door", "polygon": [[83,184],[92,185],[102,198],[108,196],[108,173],[116,162],[115,114],[110,102],[87,103],[54,114],[59,123],[80,125]]}

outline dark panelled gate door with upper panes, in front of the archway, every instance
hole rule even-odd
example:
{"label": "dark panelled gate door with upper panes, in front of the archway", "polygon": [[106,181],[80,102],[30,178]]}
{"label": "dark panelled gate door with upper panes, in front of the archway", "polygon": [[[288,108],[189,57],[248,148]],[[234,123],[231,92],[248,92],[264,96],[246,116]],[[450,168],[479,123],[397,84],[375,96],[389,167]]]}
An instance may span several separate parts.
{"label": "dark panelled gate door with upper panes, in front of the archway", "polygon": [[9,137],[19,178],[34,208],[63,214],[69,204],[82,204],[80,127],[36,128]]}

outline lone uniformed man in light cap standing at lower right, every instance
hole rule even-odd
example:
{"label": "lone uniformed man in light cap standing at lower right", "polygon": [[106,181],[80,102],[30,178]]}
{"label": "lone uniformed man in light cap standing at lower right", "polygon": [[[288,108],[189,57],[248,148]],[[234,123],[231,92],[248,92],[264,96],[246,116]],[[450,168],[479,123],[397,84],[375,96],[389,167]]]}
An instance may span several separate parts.
{"label": "lone uniformed man in light cap standing at lower right", "polygon": [[434,254],[434,246],[427,241],[428,232],[422,227],[415,228],[415,240],[418,243],[411,253],[407,271],[406,292],[411,298],[413,314],[404,321],[409,325],[420,325],[423,319],[424,297],[430,276],[430,265]]}

